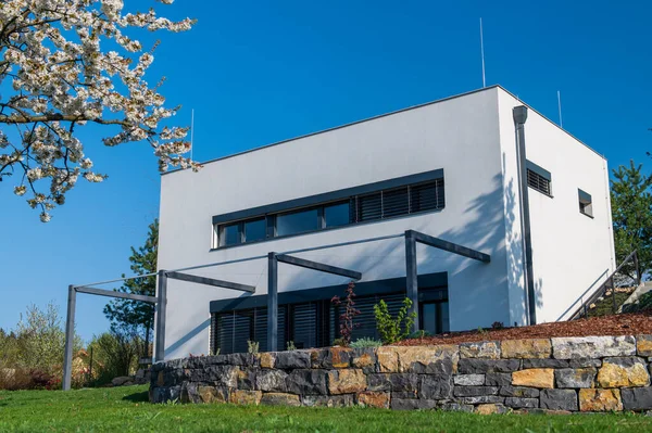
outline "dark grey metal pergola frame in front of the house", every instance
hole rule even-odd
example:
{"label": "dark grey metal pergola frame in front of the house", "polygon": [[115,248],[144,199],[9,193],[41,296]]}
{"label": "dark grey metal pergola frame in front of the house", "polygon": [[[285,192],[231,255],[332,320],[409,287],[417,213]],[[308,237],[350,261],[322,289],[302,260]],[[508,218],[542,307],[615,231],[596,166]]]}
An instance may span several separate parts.
{"label": "dark grey metal pergola frame in front of the house", "polygon": [[[422,243],[428,246],[432,246],[438,250],[443,250],[449,253],[461,255],[474,260],[481,263],[489,263],[491,257],[488,254],[480,253],[473,249],[462,246],[449,241],[444,241],[439,238],[435,238],[418,231],[406,230],[404,233],[367,238],[351,242],[321,245],[315,247],[309,247],[303,250],[289,251],[285,253],[269,252],[266,256],[254,256],[242,259],[228,260],[213,263],[209,265],[193,266],[176,270],[164,270],[161,269],[156,273],[149,273],[136,277],[121,278],[109,281],[99,281],[95,283],[82,284],[82,285],[70,285],[68,286],[68,303],[67,303],[67,317],[65,328],[65,352],[63,360],[63,390],[71,389],[72,379],[72,361],[73,361],[73,340],[75,332],[75,304],[77,293],[86,293],[98,296],[118,297],[124,300],[146,302],[154,304],[156,306],[156,318],[154,324],[154,360],[162,361],[165,358],[165,317],[167,306],[167,279],[192,282],[197,284],[203,284],[214,288],[236,290],[240,292],[255,293],[255,286],[241,284],[233,281],[217,280],[213,278],[199,277],[191,273],[187,273],[189,270],[209,268],[215,266],[229,265],[240,262],[249,262],[255,259],[267,258],[267,351],[277,351],[277,333],[278,333],[278,263],[284,263],[291,266],[298,266],[301,268],[313,269],[321,272],[333,273],[350,278],[351,280],[362,279],[362,272],[340,268],[337,266],[327,265],[319,262],[308,260],[304,258],[297,257],[290,254],[298,254],[303,252],[316,251],[330,249],[336,246],[353,245],[366,242],[374,242],[387,239],[404,238],[405,239],[405,279],[406,279],[406,294],[412,301],[411,313],[416,314],[416,320],[414,320],[414,330],[419,329],[418,321],[418,283],[417,283],[417,256],[416,256],[416,244]],[[146,296],[131,293],[123,293],[111,290],[96,289],[92,285],[100,285],[111,282],[124,281],[135,278],[145,278],[151,276],[158,276],[158,289],[156,296]]]}

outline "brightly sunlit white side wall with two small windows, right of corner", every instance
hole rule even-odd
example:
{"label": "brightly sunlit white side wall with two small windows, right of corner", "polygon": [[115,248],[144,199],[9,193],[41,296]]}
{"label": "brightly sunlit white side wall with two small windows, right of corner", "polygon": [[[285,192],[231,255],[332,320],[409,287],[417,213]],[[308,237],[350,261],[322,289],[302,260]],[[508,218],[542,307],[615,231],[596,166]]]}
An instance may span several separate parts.
{"label": "brightly sunlit white side wall with two small windows, right of corner", "polygon": [[[502,151],[511,155],[514,176],[512,110],[522,104],[499,93]],[[606,161],[531,109],[525,142],[527,158],[552,177],[553,198],[530,188],[529,207],[537,322],[556,321],[575,313],[580,303],[574,303],[615,269]],[[580,214],[578,189],[591,194],[593,218]],[[519,226],[513,230],[507,238],[521,239]]]}

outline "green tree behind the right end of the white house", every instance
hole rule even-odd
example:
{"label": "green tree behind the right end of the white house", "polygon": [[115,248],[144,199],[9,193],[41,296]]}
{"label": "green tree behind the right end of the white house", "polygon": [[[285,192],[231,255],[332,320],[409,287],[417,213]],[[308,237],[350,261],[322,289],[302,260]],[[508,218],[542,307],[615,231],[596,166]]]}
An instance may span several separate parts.
{"label": "green tree behind the right end of the white house", "polygon": [[[637,250],[641,272],[652,270],[652,178],[641,173],[642,164],[619,166],[613,170],[612,215],[616,260],[622,263]],[[635,276],[634,265],[624,268]]]}

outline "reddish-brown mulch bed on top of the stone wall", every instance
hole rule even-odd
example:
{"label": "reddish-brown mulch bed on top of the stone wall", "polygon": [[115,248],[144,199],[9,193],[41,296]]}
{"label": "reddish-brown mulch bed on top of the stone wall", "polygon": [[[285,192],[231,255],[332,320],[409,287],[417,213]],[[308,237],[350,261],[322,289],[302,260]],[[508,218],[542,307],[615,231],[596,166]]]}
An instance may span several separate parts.
{"label": "reddish-brown mulch bed on top of the stone wall", "polygon": [[652,313],[631,313],[590,317],[572,321],[535,324],[531,327],[485,329],[449,332],[424,339],[403,340],[400,346],[457,344],[488,340],[549,339],[552,336],[636,335],[652,334]]}

